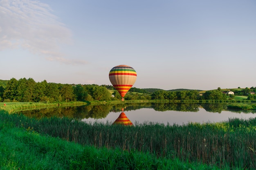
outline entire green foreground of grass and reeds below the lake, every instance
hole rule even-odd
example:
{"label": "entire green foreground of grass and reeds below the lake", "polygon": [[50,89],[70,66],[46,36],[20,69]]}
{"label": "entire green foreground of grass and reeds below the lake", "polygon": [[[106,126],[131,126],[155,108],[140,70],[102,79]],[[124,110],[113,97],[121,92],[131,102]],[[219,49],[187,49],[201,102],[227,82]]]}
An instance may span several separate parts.
{"label": "entire green foreground of grass and reeds below the lake", "polygon": [[0,164],[6,169],[256,168],[256,119],[122,126],[36,120],[1,110],[0,129]]}

